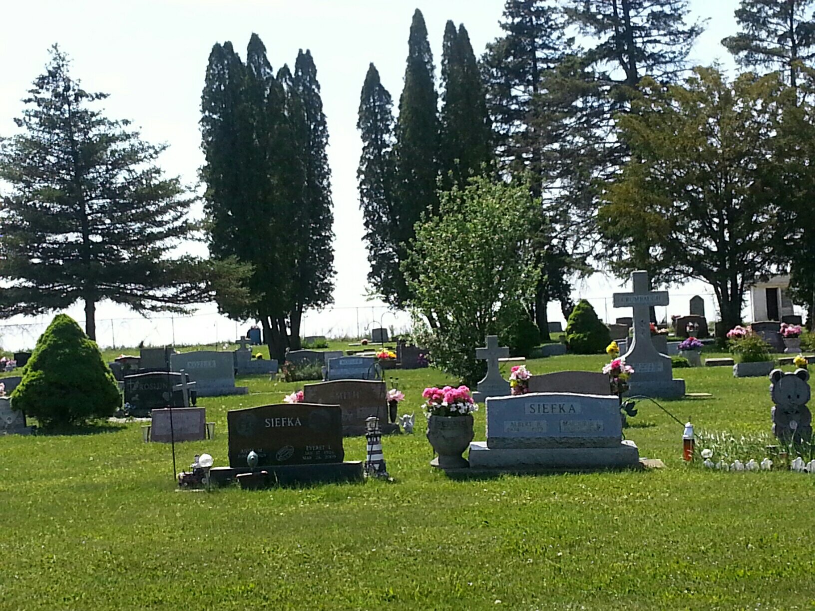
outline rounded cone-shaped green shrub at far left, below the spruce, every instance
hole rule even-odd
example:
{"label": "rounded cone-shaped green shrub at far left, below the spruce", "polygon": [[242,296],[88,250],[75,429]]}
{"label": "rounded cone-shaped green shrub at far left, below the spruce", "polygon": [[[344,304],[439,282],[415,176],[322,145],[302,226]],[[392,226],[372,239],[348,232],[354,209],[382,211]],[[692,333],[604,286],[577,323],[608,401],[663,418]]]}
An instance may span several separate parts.
{"label": "rounded cone-shaped green shrub at far left, below the spruce", "polygon": [[119,386],[99,347],[68,314],[57,314],[37,340],[11,399],[43,427],[107,418],[121,407]]}

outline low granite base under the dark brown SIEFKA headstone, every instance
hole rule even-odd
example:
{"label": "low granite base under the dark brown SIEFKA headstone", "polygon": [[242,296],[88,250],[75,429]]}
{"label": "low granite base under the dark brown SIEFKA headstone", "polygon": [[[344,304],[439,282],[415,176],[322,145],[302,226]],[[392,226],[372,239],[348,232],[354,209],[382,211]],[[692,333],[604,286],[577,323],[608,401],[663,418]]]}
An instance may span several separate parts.
{"label": "low granite base under the dark brown SIEFKA headstone", "polygon": [[[363,462],[350,460],[344,463],[289,464],[263,467],[267,472],[266,487],[302,486],[304,484],[328,484],[346,481],[363,481]],[[249,467],[213,467],[209,481],[215,486],[226,486],[238,481],[243,473],[252,473]]]}

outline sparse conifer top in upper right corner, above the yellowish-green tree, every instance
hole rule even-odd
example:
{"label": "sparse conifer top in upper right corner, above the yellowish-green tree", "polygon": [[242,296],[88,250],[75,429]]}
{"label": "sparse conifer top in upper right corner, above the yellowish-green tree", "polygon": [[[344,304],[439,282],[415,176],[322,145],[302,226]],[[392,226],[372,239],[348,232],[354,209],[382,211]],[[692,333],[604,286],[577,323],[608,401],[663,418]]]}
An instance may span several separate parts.
{"label": "sparse conifer top in upper right corner, above the yellowish-green tree", "polygon": [[736,9],[740,31],[722,40],[736,62],[779,70],[797,89],[800,64],[815,59],[815,0],[742,0]]}

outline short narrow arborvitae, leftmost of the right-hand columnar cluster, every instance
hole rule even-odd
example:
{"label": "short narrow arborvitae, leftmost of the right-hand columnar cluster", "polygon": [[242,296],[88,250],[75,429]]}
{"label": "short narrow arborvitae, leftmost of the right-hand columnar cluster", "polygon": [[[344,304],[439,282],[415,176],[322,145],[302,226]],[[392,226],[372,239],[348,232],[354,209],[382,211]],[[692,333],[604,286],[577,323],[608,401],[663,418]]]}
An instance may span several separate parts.
{"label": "short narrow arborvitae, leftmost of the right-hand columnar cluster", "polygon": [[399,268],[394,227],[393,100],[370,64],[359,96],[357,130],[362,138],[357,184],[368,243],[368,282],[381,294]]}

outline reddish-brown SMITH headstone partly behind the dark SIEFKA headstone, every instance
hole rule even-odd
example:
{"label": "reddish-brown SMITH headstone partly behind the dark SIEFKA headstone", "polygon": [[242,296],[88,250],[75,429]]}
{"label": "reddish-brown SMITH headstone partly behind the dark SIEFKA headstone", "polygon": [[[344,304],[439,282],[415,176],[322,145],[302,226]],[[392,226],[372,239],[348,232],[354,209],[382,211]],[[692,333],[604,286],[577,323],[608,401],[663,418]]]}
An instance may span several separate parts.
{"label": "reddish-brown SMITH headstone partly behind the dark SIEFKA headstone", "polygon": [[346,437],[365,434],[365,420],[379,419],[382,433],[394,433],[399,425],[388,423],[388,401],[385,382],[372,380],[335,380],[306,384],[303,401],[338,405],[342,410],[342,434]]}

